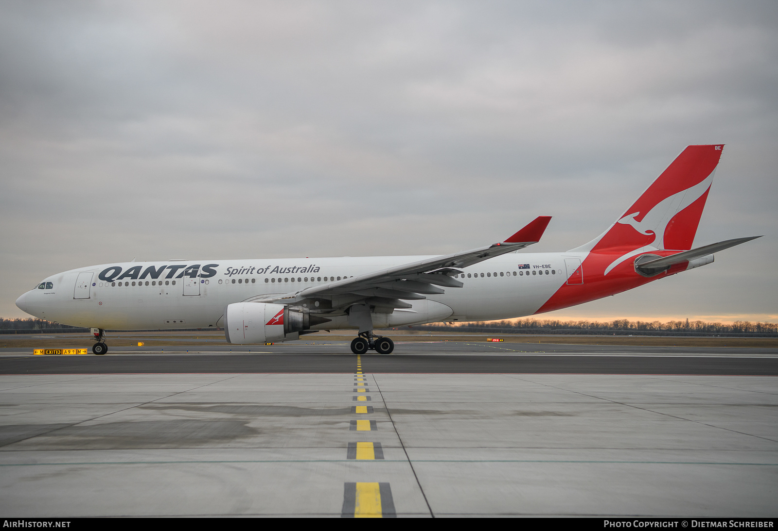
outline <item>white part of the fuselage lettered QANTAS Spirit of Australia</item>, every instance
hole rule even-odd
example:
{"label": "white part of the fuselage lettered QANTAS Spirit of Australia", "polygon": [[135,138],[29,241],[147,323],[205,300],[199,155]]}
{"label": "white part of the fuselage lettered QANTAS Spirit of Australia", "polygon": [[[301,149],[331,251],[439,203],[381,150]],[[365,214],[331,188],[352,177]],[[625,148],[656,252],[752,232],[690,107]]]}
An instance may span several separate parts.
{"label": "white part of the fuselage lettered QANTAS Spirit of Australia", "polygon": [[[480,262],[462,269],[464,278],[457,279],[464,283],[463,287],[446,288],[445,293],[427,295],[426,300],[408,300],[412,309],[396,309],[394,318],[384,318],[375,325],[381,328],[436,321],[486,321],[534,314],[566,283],[565,259],[583,261],[586,254],[510,253]],[[19,297],[16,304],[38,318],[65,325],[110,330],[216,328],[223,326],[228,304],[302,290],[329,279],[360,276],[425,258],[428,257],[104,264],[50,276],[44,283],[51,283],[51,288],[36,287]],[[195,265],[198,267],[194,268]],[[336,318],[313,328],[353,327],[347,318]]]}

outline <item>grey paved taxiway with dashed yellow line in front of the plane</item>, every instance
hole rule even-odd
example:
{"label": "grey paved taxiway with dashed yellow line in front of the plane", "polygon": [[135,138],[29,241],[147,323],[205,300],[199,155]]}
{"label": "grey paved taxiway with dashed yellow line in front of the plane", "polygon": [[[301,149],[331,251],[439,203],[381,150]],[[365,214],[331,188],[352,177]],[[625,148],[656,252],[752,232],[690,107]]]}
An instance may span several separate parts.
{"label": "grey paved taxiway with dashed yellow line in front of the plane", "polygon": [[778,351],[532,347],[3,352],[0,509],[776,516]]}

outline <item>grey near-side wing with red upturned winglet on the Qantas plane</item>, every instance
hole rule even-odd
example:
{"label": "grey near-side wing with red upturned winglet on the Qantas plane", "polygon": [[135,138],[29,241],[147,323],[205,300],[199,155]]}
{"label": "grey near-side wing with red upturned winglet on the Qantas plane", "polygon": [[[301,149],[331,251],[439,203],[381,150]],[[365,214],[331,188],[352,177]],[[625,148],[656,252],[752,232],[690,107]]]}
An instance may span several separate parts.
{"label": "grey near-side wing with red upturned winglet on the Qantas plane", "polygon": [[307,311],[317,314],[344,314],[345,309],[352,304],[364,303],[376,307],[377,312],[391,313],[394,308],[412,307],[403,300],[426,299],[425,295],[445,293],[443,287],[462,287],[461,282],[452,278],[461,273],[459,268],[472,266],[537,243],[549,220],[551,220],[549,216],[537,217],[510,238],[493,245],[455,252],[451,255],[435,256],[366,275],[352,276],[337,282],[323,283],[270,297],[254,297],[250,300],[291,306],[301,306],[306,304],[306,301],[313,300],[320,303],[327,301],[329,304],[319,304],[317,309],[313,308],[314,304],[306,304]]}

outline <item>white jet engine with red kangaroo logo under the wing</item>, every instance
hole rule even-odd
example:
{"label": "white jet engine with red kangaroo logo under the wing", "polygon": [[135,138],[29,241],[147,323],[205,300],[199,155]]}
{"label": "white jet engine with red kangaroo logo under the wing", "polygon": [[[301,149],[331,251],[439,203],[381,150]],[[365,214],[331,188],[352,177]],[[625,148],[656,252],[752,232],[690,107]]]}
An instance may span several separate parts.
{"label": "white jet engine with red kangaroo logo under the wing", "polygon": [[283,304],[234,303],[224,311],[227,342],[246,345],[296,339],[313,325],[330,321]]}

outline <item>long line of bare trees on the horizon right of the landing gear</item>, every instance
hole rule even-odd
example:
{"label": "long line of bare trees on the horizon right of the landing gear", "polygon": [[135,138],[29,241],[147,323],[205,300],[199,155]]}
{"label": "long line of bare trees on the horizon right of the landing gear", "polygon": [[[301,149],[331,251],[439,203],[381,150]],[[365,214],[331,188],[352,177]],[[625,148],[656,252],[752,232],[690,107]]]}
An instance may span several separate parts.
{"label": "long line of bare trees on the horizon right of the landing gear", "polygon": [[417,325],[417,330],[460,328],[461,331],[504,331],[513,334],[597,334],[597,335],[778,335],[776,323],[734,321],[730,325],[705,321],[559,321],[520,319],[518,321],[478,321],[456,325]]}

